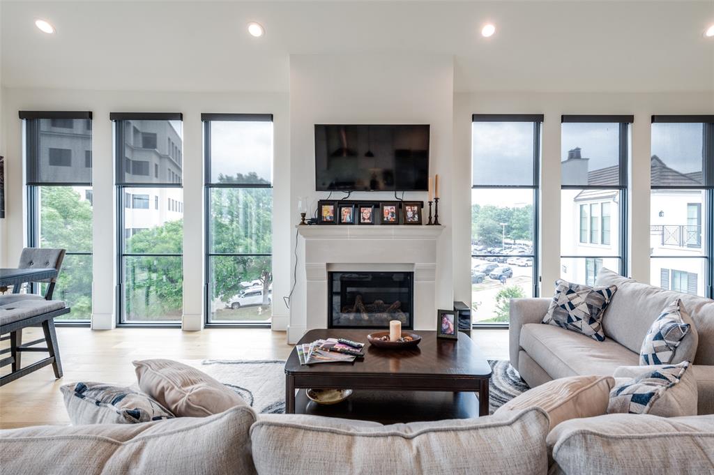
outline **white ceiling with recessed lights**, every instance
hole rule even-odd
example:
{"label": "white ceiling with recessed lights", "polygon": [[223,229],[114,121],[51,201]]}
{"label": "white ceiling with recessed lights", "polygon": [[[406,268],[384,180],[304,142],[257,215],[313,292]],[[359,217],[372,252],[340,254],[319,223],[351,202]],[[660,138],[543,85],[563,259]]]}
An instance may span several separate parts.
{"label": "white ceiling with recessed lights", "polygon": [[[454,56],[456,91],[714,90],[714,1],[0,1],[6,87],[287,91],[290,54]],[[51,21],[46,35],[34,19]],[[258,21],[266,36],[248,36]],[[483,39],[481,26],[498,30]]]}

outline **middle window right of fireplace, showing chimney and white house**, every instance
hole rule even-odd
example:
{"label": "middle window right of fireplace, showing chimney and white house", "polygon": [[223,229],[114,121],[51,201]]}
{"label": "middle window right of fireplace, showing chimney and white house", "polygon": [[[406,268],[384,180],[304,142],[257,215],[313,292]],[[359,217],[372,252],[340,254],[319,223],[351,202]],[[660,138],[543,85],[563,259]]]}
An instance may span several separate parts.
{"label": "middle window right of fireplace, showing chimney and white house", "polygon": [[632,116],[563,116],[560,275],[595,284],[603,267],[625,274]]}

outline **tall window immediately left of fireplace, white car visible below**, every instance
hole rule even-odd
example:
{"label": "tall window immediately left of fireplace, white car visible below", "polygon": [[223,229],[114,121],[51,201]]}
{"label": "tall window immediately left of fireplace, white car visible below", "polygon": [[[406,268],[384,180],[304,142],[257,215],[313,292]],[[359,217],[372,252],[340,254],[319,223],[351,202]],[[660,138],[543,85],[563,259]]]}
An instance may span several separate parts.
{"label": "tall window immediately left of fireplace, white car visible below", "polygon": [[268,324],[273,116],[203,114],[207,324]]}

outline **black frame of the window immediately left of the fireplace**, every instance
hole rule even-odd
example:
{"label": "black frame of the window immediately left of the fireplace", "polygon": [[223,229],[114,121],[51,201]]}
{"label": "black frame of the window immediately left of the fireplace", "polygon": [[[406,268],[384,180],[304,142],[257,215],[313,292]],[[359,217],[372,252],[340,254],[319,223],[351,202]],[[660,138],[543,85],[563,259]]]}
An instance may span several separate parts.
{"label": "black frame of the window immediately left of the fireplace", "polygon": [[[273,189],[273,181],[269,184],[259,183],[213,183],[211,181],[211,122],[212,121],[243,121],[243,122],[273,122],[273,114],[201,114],[203,122],[203,216],[204,218],[204,241],[206,251],[203,253],[203,269],[206,275],[203,284],[203,296],[205,305],[203,311],[205,316],[203,324],[213,328],[270,328],[271,322],[246,322],[246,321],[226,321],[215,323],[211,321],[211,257],[270,257],[271,265],[273,253],[225,253],[211,252],[211,189],[231,188],[231,189]],[[272,245],[271,245],[272,251]]]}

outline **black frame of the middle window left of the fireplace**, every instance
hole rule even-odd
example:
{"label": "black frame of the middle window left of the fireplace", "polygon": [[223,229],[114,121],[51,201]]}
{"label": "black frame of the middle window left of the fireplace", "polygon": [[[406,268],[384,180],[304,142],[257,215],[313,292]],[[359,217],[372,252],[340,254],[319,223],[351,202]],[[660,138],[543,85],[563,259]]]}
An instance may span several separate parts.
{"label": "black frame of the middle window left of the fireplace", "polygon": [[[124,209],[126,204],[131,204],[133,198],[131,194],[126,192],[126,189],[155,189],[155,188],[177,188],[183,190],[183,170],[181,171],[181,180],[178,183],[154,183],[154,182],[129,182],[126,181],[126,174],[124,173],[124,163],[126,161],[131,161],[128,157],[124,155],[124,137],[126,136],[126,122],[125,121],[181,121],[183,122],[183,114],[180,112],[176,113],[163,113],[163,112],[112,112],[109,114],[109,119],[114,122],[114,167],[116,181],[114,186],[116,188],[116,295],[115,295],[115,308],[116,308],[116,326],[122,326],[125,328],[131,327],[152,327],[152,328],[181,328],[181,318],[176,321],[123,321],[124,320],[124,277],[126,274],[124,261],[126,257],[180,257],[181,266],[183,266],[183,251],[181,253],[134,253],[126,252],[126,239],[127,236],[124,233]],[[136,129],[136,127],[134,127]],[[138,129],[137,129],[138,131]],[[141,132],[141,131],[139,131]],[[132,130],[132,144],[134,143],[134,130]],[[124,157],[120,160],[119,157]],[[120,163],[121,161],[121,163]],[[151,174],[149,174],[151,176]],[[121,178],[121,179],[120,179]],[[126,196],[129,195],[129,196]],[[126,202],[126,199],[131,201]],[[151,203],[151,198],[149,198],[149,203]],[[131,207],[131,206],[130,206]],[[149,205],[151,209],[151,204]],[[183,293],[183,289],[181,289]],[[182,309],[183,311],[183,309]]]}

